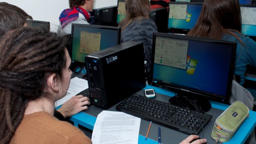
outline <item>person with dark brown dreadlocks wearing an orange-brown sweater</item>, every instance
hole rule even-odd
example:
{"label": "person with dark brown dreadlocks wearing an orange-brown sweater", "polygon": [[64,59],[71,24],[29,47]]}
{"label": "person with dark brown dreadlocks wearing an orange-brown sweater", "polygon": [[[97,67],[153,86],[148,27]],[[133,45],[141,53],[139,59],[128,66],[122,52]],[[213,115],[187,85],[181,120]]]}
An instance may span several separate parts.
{"label": "person with dark brown dreadlocks wearing an orange-brown sweater", "polygon": [[4,35],[0,51],[0,144],[91,144],[53,116],[72,74],[64,39],[22,27]]}

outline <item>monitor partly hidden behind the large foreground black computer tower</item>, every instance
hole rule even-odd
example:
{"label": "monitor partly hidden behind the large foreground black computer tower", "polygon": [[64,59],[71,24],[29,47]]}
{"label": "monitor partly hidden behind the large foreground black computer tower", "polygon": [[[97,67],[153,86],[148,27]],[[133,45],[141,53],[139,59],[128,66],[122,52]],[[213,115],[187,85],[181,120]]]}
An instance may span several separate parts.
{"label": "monitor partly hidden behind the large foreground black computer tower", "polygon": [[85,66],[85,56],[120,44],[121,28],[72,24],[72,67]]}

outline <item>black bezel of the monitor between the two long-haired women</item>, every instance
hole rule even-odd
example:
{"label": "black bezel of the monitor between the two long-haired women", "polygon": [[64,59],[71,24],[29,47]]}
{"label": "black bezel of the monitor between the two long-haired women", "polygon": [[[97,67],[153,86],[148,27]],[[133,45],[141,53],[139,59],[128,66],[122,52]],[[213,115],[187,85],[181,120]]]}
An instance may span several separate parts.
{"label": "black bezel of the monitor between the two long-haired women", "polygon": [[177,33],[177,34],[187,34],[190,31],[190,29],[185,29],[185,28],[169,28],[170,4],[200,4],[200,5],[203,5],[203,2],[169,2],[168,14],[167,14],[168,15],[168,17],[167,17],[167,32],[168,33]]}

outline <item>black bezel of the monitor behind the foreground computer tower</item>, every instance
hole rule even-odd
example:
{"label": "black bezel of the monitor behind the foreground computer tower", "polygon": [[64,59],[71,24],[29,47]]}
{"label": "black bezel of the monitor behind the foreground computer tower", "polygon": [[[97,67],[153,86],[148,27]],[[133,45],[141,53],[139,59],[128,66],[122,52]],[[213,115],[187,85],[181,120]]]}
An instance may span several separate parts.
{"label": "black bezel of the monitor behind the foreground computer tower", "polygon": [[[86,28],[99,28],[99,29],[111,29],[111,30],[117,30],[118,31],[118,38],[117,38],[117,45],[120,44],[120,38],[121,38],[121,28],[120,27],[116,27],[116,26],[104,26],[104,25],[95,25],[95,24],[74,24],[72,23],[71,25],[71,41],[73,43],[73,30],[75,26],[79,26],[79,27],[86,27]],[[73,45],[72,45],[73,47]],[[72,60],[72,53],[73,53],[73,49],[71,47],[71,51],[70,51],[70,58],[72,61],[72,64],[76,66],[85,66],[86,64],[80,61],[74,61]]]}

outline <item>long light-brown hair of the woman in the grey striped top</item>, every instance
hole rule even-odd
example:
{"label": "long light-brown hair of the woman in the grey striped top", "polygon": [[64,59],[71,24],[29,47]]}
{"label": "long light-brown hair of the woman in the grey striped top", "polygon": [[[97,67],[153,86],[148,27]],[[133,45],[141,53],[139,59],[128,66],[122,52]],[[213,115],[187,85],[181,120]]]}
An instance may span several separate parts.
{"label": "long light-brown hair of the woman in the grey striped top", "polygon": [[122,30],[136,18],[149,18],[151,4],[149,0],[125,0],[126,18],[119,24]]}

